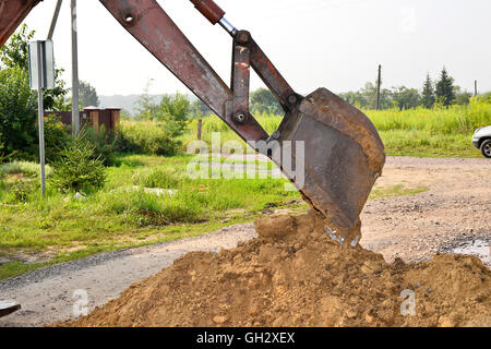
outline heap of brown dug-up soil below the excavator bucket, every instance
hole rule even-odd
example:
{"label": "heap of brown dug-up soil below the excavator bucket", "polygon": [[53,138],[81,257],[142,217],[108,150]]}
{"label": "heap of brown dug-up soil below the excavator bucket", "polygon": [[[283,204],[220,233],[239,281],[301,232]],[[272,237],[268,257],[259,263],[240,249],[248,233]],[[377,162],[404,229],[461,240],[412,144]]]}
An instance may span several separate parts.
{"label": "heap of brown dug-up soil below the excavator bucket", "polygon": [[387,264],[308,215],[255,227],[258,239],[189,253],[68,325],[491,326],[491,272],[476,257]]}

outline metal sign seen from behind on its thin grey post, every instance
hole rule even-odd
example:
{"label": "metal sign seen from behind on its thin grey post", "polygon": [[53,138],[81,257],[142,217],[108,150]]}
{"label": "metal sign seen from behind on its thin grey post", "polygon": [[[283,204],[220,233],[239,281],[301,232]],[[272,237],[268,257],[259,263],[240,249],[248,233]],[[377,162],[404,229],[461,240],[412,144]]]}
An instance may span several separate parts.
{"label": "metal sign seen from behind on its thin grey post", "polygon": [[39,161],[43,196],[46,194],[45,108],[43,91],[55,88],[55,60],[52,41],[29,43],[29,85],[37,91],[39,120]]}

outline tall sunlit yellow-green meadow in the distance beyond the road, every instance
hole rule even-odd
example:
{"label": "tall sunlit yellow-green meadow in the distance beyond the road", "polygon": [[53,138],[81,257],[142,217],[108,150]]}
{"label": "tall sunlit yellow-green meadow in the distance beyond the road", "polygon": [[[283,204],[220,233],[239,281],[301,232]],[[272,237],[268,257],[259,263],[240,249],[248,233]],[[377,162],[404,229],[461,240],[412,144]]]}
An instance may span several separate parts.
{"label": "tall sunlit yellow-green meadow in the distance beyond the road", "polygon": [[[491,104],[472,100],[469,106],[442,109],[411,109],[399,111],[363,110],[379,130],[390,156],[416,157],[481,157],[471,144],[476,129],[491,124]],[[256,118],[272,133],[282,118],[261,116]],[[183,137],[184,145],[195,140],[196,121]],[[212,132],[220,132],[221,141],[239,137],[217,117],[203,122],[203,140],[211,142]]]}

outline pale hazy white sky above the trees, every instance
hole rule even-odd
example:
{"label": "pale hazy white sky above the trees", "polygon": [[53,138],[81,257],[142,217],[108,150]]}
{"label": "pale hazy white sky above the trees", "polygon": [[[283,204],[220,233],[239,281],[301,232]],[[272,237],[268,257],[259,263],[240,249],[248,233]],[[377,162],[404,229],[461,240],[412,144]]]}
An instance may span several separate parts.
{"label": "pale hazy white sky above the trees", "polygon": [[[456,84],[491,91],[490,0],[216,0],[258,44],[299,93],[318,87],[358,89],[376,79],[384,87],[420,88],[445,65]],[[212,67],[228,82],[231,38],[212,26],[188,0],[158,1]],[[26,19],[36,38],[47,35],[56,0]],[[71,79],[70,0],[63,1],[55,55]],[[97,0],[79,1],[80,77],[99,95],[188,89],[123,29]],[[254,74],[253,74],[254,75]],[[261,86],[252,79],[252,88]]]}

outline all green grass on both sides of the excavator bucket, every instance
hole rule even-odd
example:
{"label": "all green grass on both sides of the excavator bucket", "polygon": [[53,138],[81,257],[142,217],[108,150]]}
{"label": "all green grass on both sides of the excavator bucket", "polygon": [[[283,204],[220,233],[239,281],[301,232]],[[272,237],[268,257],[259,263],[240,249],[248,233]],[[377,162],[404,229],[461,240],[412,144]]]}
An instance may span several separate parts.
{"label": "all green grass on both sides of the excavator bucket", "polygon": [[[468,107],[408,111],[367,111],[380,130],[388,155],[480,157],[470,144],[475,129],[491,124],[491,105],[472,101]],[[282,118],[258,118],[268,132]],[[159,129],[153,123],[124,122],[134,139],[152,149]],[[181,139],[183,148],[195,140],[195,121]],[[221,142],[239,140],[218,118],[204,120],[203,137],[220,132]],[[155,142],[154,142],[155,143]],[[11,163],[0,167],[0,279],[43,265],[71,261],[94,253],[200,236],[220,227],[252,221],[264,210],[304,212],[300,194],[286,191],[284,179],[191,179],[193,157],[118,155],[107,168],[108,181],[85,198],[60,194],[48,179],[47,196],[38,189],[38,167]],[[212,158],[213,172],[224,163]],[[248,163],[250,165],[251,161]],[[270,163],[253,161],[259,170]],[[48,168],[48,176],[50,169]],[[224,170],[221,177],[227,177]],[[228,173],[229,174],[229,173]],[[3,177],[3,179],[2,179]],[[220,176],[218,176],[220,178]],[[158,193],[155,189],[173,190]],[[375,186],[371,200],[426,191],[404,184]]]}

